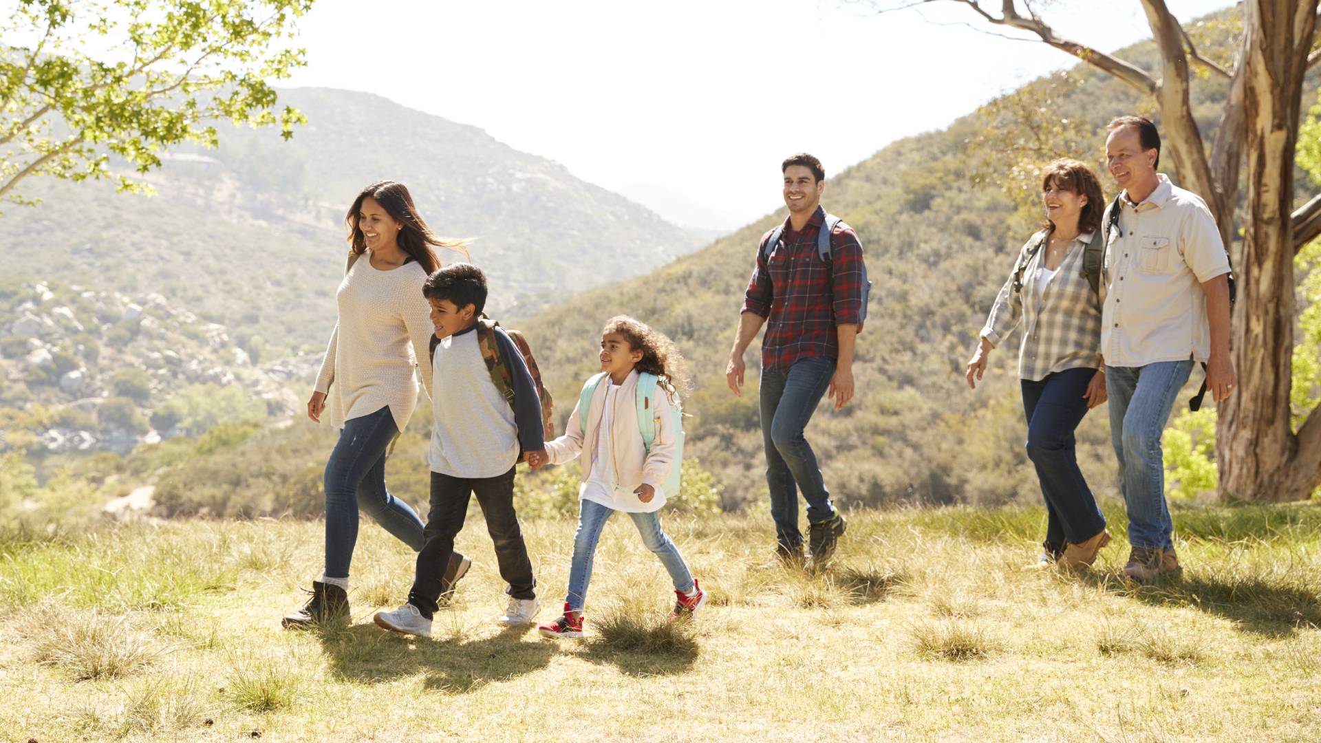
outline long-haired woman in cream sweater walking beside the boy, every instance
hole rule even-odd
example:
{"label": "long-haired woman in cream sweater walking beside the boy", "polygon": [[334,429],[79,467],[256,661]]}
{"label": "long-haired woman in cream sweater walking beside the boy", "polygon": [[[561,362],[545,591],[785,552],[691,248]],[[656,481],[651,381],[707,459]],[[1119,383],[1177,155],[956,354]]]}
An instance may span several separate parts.
{"label": "long-haired woman in cream sweater walking beside the boy", "polygon": [[[432,247],[466,254],[464,241],[436,237],[394,181],[362,189],[345,225],[351,247],[336,292],[339,316],[308,401],[308,418],[320,423],[329,412],[339,430],[325,468],[325,572],[306,606],[284,617],[293,628],[347,617],[359,510],[415,551],[423,546],[417,513],[386,489],[386,453],[417,403],[419,375],[431,395],[431,308],[421,286],[440,267]],[[454,554],[450,590],[469,565]]]}

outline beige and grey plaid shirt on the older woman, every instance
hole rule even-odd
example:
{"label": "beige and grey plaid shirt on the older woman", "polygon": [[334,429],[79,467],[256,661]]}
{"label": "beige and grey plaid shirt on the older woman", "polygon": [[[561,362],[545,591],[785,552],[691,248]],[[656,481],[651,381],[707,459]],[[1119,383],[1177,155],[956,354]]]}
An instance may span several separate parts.
{"label": "beige and grey plaid shirt on the older woman", "polygon": [[982,334],[999,346],[1020,320],[1024,323],[1018,346],[1020,379],[1040,382],[1054,372],[1100,366],[1096,353],[1100,348],[1100,301],[1082,275],[1082,254],[1089,239],[1091,233],[1083,233],[1069,243],[1065,259],[1046,284],[1045,295],[1037,293],[1041,262],[1046,255],[1046,247],[1041,246],[1022,272],[1022,291],[1013,291],[1011,270],[1009,280],[996,296]]}

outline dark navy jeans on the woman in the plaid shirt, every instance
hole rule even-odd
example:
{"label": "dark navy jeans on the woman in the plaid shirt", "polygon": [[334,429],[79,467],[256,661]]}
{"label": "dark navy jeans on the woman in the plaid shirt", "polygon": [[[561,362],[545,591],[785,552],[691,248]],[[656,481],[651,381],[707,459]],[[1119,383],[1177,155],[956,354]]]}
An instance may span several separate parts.
{"label": "dark navy jeans on the woman in the plaid shirt", "polygon": [[1037,468],[1046,500],[1048,551],[1081,545],[1106,528],[1087,481],[1078,469],[1074,430],[1087,415],[1087,383],[1095,369],[1066,369],[1033,382],[1022,379],[1022,412],[1028,419],[1028,459]]}

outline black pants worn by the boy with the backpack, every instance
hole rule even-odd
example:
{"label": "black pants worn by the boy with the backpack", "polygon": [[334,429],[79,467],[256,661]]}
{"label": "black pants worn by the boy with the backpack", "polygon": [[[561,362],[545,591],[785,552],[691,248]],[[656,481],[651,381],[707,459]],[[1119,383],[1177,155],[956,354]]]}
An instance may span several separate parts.
{"label": "black pants worn by the boy with the backpack", "polygon": [[431,619],[436,612],[436,599],[444,590],[443,578],[454,551],[454,537],[464,528],[468,500],[477,496],[482,506],[486,530],[495,545],[499,576],[509,583],[506,594],[515,599],[535,599],[536,579],[532,561],[527,558],[523,530],[514,513],[514,468],[497,477],[450,477],[431,473],[431,513],[427,514],[427,543],[417,554],[417,572],[408,591],[408,603]]}

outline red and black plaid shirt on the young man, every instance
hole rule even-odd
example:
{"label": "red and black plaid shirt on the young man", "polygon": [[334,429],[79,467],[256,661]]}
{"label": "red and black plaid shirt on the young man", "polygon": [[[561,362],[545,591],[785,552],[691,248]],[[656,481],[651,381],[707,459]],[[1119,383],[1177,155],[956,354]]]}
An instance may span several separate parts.
{"label": "red and black plaid shirt on the young man", "polygon": [[768,231],[757,246],[757,266],[748,282],[742,312],[766,319],[761,368],[789,372],[799,358],[839,358],[836,325],[856,325],[863,309],[863,246],[843,222],[831,238],[832,259],[822,262],[816,235],[826,210],[816,212],[802,231],[785,233],[766,251]]}

